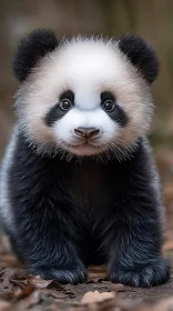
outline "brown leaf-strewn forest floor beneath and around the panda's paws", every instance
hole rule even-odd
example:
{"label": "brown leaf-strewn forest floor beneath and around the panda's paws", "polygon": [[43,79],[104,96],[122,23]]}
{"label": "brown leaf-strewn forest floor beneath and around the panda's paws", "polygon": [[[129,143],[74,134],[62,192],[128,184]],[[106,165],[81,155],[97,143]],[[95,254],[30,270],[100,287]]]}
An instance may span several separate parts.
{"label": "brown leaf-strewn forest floor beneath and around the panda's paws", "polygon": [[[135,289],[105,281],[105,267],[90,267],[88,281],[61,285],[27,274],[12,253],[7,239],[0,248],[0,311],[171,311],[173,310],[173,269],[163,285]],[[164,244],[164,255],[173,267],[173,239]]]}

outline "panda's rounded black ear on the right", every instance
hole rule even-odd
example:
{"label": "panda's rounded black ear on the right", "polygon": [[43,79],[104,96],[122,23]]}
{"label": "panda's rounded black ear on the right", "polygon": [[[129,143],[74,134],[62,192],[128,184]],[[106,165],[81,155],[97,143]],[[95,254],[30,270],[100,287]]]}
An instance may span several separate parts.
{"label": "panda's rounded black ear on the right", "polygon": [[153,48],[141,36],[125,34],[120,38],[120,50],[126,54],[129,60],[134,64],[143,78],[152,83],[160,69],[160,62]]}

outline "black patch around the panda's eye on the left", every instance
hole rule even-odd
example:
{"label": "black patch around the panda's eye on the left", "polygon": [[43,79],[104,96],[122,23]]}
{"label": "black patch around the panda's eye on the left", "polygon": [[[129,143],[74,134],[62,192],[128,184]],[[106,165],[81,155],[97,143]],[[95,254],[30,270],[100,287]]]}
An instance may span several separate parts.
{"label": "black patch around the panda's eye on the left", "polygon": [[70,110],[62,109],[61,102],[63,100],[68,100],[69,102],[71,102],[72,108],[74,104],[74,93],[71,90],[68,90],[60,96],[59,102],[55,103],[44,117],[44,122],[47,126],[52,127],[55,121],[60,120]]}

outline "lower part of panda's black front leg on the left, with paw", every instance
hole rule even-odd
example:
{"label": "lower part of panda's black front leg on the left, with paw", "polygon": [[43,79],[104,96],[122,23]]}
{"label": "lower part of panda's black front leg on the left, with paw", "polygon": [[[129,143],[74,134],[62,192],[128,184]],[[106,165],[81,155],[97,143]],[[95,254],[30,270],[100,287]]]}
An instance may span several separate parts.
{"label": "lower part of panda's black front leg on the left, with paw", "polygon": [[70,215],[64,215],[62,210],[55,215],[48,202],[47,207],[32,211],[27,205],[20,210],[16,223],[21,255],[29,272],[60,283],[83,282],[86,271],[74,242],[78,232],[72,229]]}

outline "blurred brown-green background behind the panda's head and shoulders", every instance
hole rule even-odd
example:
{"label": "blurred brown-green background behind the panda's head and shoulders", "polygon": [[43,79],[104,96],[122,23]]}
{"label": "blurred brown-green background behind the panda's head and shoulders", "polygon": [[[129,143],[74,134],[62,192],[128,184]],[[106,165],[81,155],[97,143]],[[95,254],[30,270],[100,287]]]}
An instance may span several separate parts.
{"label": "blurred brown-green background behind the panda's head and shoulders", "polygon": [[160,78],[152,86],[155,117],[150,132],[161,173],[167,213],[173,230],[173,1],[172,0],[1,0],[0,1],[0,159],[13,122],[11,59],[21,37],[35,28],[64,34],[125,32],[144,36],[161,61]]}

